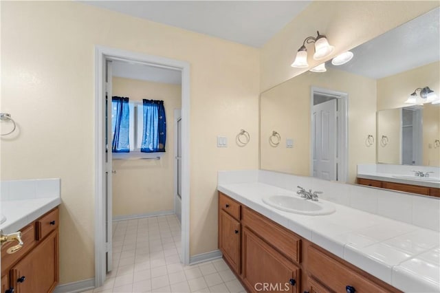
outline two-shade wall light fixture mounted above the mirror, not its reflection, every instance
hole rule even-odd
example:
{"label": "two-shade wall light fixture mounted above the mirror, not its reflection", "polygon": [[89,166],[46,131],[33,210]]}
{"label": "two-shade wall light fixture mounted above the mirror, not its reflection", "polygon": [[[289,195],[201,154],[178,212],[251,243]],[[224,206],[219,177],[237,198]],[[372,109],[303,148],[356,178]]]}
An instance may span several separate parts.
{"label": "two-shade wall light fixture mounted above the mirror, not its reflection", "polygon": [[305,47],[306,43],[315,43],[315,60],[321,60],[333,53],[335,47],[329,44],[329,41],[327,41],[327,37],[323,34],[319,34],[318,31],[316,33],[318,34],[318,36],[316,37],[307,36],[307,38],[305,38],[303,45],[298,49],[298,52],[296,53],[295,61],[291,65],[292,67],[309,67],[309,63],[307,63],[307,48]]}

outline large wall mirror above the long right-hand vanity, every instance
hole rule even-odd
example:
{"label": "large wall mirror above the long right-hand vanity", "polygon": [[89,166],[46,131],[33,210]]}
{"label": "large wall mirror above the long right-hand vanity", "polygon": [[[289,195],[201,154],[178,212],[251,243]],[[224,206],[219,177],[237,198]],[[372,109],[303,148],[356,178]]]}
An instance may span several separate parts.
{"label": "large wall mirror above the long right-hand vanity", "polygon": [[[402,157],[397,153],[393,154],[396,156],[392,158],[377,153],[382,134],[376,125],[379,119],[377,116],[380,115],[377,114],[378,111],[410,106],[405,102],[419,87],[428,86],[437,95],[440,94],[439,8],[404,23],[354,48],[351,52],[354,54],[353,59],[345,65],[334,66],[327,61],[327,72],[308,71],[261,94],[261,169],[295,175],[314,175],[315,148],[311,118],[314,88],[347,94],[347,140],[337,146],[338,149],[347,149],[347,175],[346,180],[343,177],[338,180],[355,183],[358,164],[375,164],[381,161],[401,164],[410,160],[411,164],[414,161],[413,164],[438,166],[438,158],[430,157],[426,160],[423,153],[423,148],[429,148],[430,144],[434,151],[434,141],[440,139],[434,138],[435,133],[440,136],[438,127],[437,130],[429,127],[434,133],[432,138],[429,138],[432,141],[425,142],[428,137],[420,136],[423,140],[421,155]],[[440,116],[440,105],[432,104],[423,105],[422,116],[425,115],[427,107],[432,109],[434,117]],[[402,113],[402,110],[399,111]],[[414,116],[411,119],[418,115],[417,111],[412,114]],[[426,122],[426,118],[423,117],[423,124]],[[419,126],[414,124],[412,127],[417,129]],[[405,131],[409,132],[408,129]],[[424,127],[422,129],[424,132]],[[273,131],[280,136],[280,143],[276,146],[270,144]],[[405,138],[404,141],[415,144],[415,130],[411,130],[411,133],[411,140]],[[371,143],[371,138],[374,138],[375,143]],[[391,135],[388,135],[388,143],[394,142]],[[417,149],[414,146],[408,149],[400,144],[395,147],[403,148],[405,153],[413,153]],[[339,162],[337,168],[340,168]]]}

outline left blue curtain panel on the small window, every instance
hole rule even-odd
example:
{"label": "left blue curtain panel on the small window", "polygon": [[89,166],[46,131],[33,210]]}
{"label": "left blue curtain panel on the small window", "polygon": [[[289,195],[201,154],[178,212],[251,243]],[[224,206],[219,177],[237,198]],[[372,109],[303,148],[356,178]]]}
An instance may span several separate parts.
{"label": "left blue curtain panel on the small window", "polygon": [[111,129],[113,153],[129,153],[129,128],[130,128],[129,98],[111,98]]}

